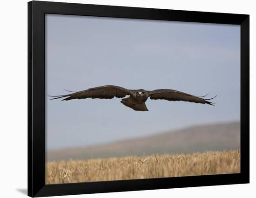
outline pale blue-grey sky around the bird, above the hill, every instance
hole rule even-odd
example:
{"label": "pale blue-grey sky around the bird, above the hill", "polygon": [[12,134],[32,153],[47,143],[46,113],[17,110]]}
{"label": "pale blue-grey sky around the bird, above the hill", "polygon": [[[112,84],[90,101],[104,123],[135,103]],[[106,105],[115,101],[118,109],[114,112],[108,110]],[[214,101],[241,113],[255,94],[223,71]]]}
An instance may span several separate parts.
{"label": "pale blue-grey sky around the bird, above the hill", "polygon": [[216,106],[49,100],[46,148],[78,147],[240,119],[240,26],[46,15],[46,95],[101,85],[218,95]]}

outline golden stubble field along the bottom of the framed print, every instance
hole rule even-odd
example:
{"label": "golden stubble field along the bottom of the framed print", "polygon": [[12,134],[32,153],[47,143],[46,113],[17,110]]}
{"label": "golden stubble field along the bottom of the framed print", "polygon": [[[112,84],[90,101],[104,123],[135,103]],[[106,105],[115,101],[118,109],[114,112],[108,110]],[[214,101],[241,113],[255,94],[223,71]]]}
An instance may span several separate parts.
{"label": "golden stubble field along the bottom of the framed print", "polygon": [[240,150],[53,161],[46,184],[145,179],[240,172]]}

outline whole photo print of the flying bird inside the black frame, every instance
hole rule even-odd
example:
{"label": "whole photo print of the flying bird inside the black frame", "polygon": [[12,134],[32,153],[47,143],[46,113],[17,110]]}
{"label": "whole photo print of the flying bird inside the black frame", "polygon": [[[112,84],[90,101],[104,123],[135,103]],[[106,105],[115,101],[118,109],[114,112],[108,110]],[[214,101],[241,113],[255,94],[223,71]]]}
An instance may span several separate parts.
{"label": "whole photo print of the flying bird inside the black frame", "polygon": [[240,173],[240,26],[45,15],[45,183]]}

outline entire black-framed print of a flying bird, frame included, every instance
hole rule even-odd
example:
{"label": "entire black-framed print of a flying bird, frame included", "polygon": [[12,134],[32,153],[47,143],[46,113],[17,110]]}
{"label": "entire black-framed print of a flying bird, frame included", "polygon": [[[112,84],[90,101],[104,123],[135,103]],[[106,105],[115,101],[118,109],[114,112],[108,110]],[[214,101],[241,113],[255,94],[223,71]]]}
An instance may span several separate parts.
{"label": "entire black-framed print of a flying bird, frame included", "polygon": [[28,2],[28,195],[249,183],[249,15]]}

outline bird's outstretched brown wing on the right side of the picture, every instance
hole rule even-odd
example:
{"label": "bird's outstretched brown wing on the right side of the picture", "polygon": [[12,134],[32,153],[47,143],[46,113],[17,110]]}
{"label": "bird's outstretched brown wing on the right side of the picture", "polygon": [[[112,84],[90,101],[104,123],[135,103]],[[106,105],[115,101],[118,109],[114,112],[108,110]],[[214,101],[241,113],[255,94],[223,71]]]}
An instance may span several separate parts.
{"label": "bird's outstretched brown wing on the right side of the picture", "polygon": [[148,95],[152,100],[187,101],[210,105],[213,105],[214,103],[209,102],[208,100],[216,97],[204,99],[202,97],[193,96],[173,89],[156,89],[154,91],[148,91]]}

